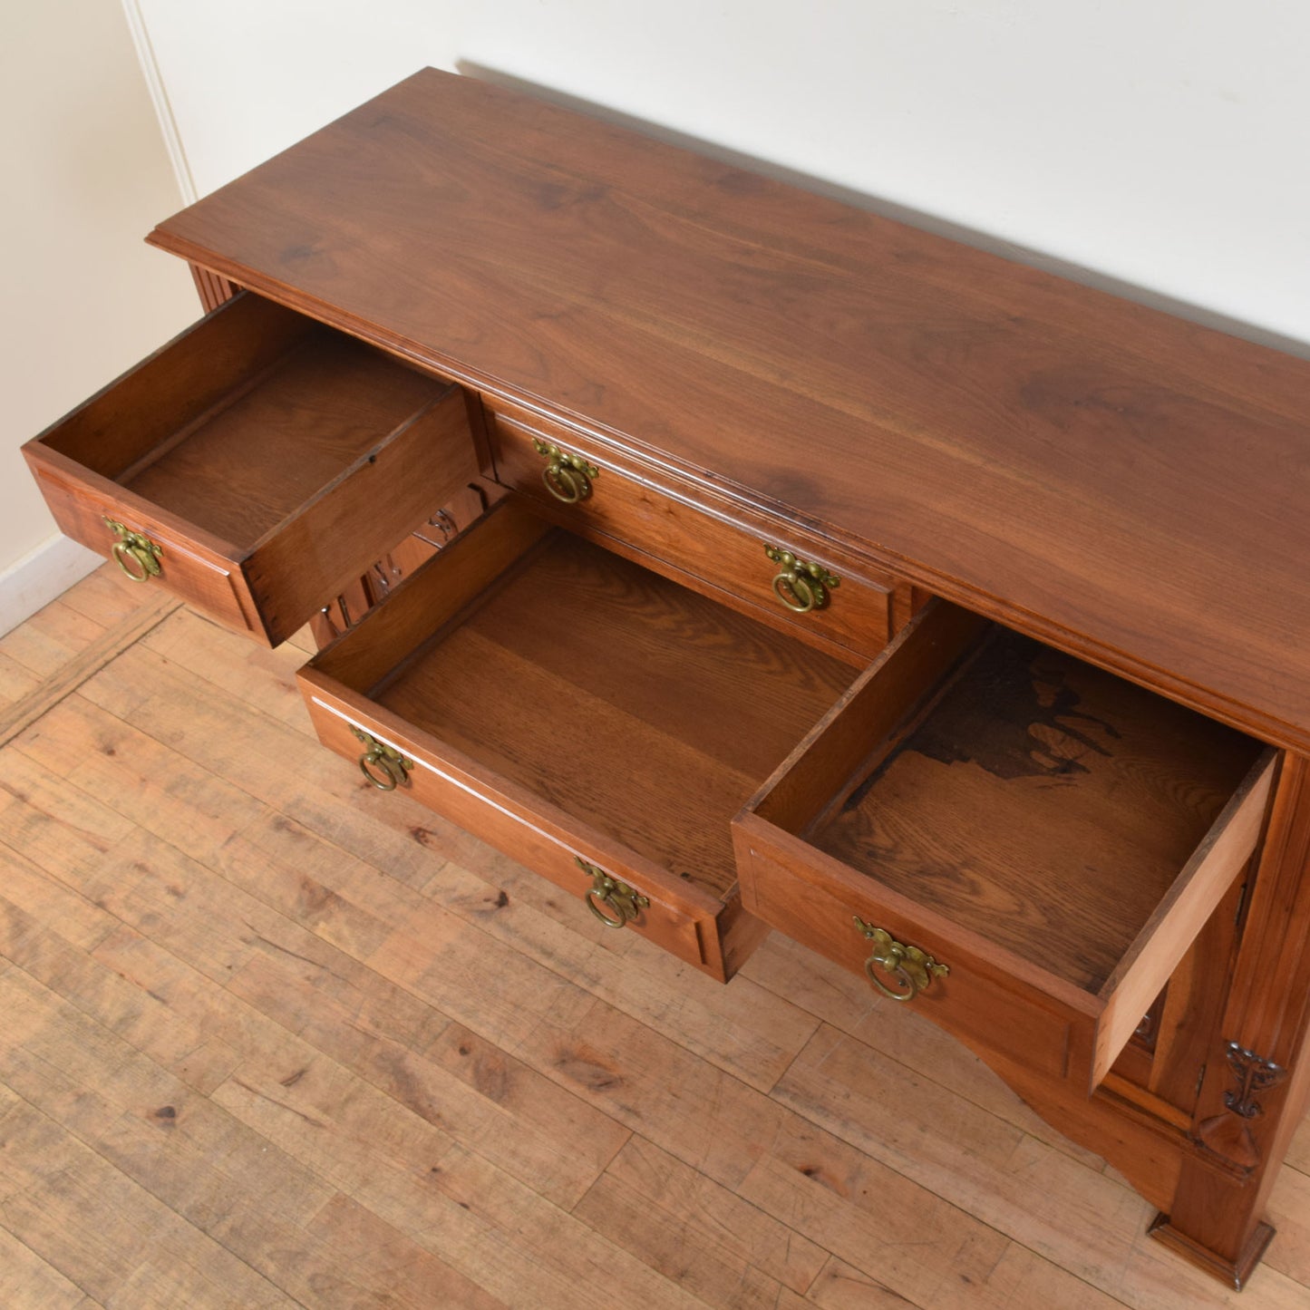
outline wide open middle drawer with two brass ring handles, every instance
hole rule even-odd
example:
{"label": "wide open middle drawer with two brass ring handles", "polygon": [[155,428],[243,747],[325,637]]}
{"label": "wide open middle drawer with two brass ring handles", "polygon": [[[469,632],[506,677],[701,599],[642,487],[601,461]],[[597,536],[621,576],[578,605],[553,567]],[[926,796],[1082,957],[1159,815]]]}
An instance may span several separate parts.
{"label": "wide open middle drawer with two brass ring handles", "polygon": [[764,935],[731,817],[854,676],[511,498],[300,683],[375,785],[727,979]]}

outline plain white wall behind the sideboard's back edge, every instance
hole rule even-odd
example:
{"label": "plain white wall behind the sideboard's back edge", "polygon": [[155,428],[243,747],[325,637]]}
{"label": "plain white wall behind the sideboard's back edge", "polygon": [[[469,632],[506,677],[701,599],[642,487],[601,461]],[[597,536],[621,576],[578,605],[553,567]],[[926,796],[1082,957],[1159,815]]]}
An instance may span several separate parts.
{"label": "plain white wall behind the sideboard's back edge", "polygon": [[465,62],[1310,343],[1305,0],[135,3],[200,193]]}

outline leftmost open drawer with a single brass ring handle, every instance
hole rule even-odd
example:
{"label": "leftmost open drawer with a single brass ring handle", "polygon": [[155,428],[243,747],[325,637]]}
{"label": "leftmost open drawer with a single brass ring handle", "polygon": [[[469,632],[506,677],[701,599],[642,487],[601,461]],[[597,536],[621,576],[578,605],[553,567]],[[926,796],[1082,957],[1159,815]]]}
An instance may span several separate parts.
{"label": "leftmost open drawer with a single brass ring handle", "polygon": [[460,388],[249,292],[24,453],[68,536],[269,645],[478,474]]}

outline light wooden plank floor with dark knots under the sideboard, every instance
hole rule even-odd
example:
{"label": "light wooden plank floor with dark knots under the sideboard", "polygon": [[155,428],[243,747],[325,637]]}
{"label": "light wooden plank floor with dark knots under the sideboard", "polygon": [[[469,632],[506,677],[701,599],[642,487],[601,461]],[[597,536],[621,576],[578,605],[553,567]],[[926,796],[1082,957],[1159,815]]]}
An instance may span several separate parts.
{"label": "light wooden plank floor with dark knots under the sideboard", "polygon": [[723,988],[102,570],[0,639],[0,1307],[1301,1307],[774,934]]}

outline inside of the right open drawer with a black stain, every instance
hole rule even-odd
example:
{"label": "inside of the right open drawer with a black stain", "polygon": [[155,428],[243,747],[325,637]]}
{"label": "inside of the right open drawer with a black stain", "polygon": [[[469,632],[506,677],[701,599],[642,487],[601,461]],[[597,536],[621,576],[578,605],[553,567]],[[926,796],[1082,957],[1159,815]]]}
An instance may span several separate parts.
{"label": "inside of the right open drawer with a black stain", "polygon": [[909,655],[875,665],[756,811],[1102,994],[1205,862],[1221,814],[1267,779],[1264,751],[962,610],[942,607],[922,631]]}

